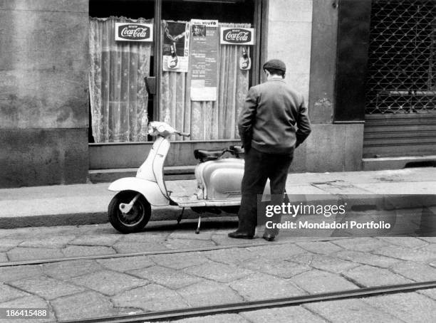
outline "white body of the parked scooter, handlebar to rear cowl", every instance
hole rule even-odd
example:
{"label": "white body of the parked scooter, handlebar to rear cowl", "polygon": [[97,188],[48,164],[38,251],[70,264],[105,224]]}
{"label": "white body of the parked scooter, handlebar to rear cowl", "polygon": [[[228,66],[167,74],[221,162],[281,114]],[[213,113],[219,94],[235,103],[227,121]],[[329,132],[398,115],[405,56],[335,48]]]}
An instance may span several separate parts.
{"label": "white body of the parked scooter, handlebar to rear cowl", "polygon": [[[201,212],[206,211],[207,208],[227,209],[226,207],[241,204],[243,159],[217,157],[218,159],[200,162],[195,168],[197,187],[193,188],[192,194],[170,196],[163,176],[163,165],[170,149],[170,137],[173,134],[182,136],[189,136],[189,134],[182,134],[165,122],[150,122],[149,134],[157,136],[157,139],[147,159],[137,170],[136,176],[114,181],[108,188],[110,191],[135,191],[144,196],[152,206],[177,205],[182,208],[190,207],[196,211],[202,210]],[[139,194],[130,203],[120,203],[119,209],[123,214],[127,214],[132,209]],[[196,232],[199,231],[198,228]]]}

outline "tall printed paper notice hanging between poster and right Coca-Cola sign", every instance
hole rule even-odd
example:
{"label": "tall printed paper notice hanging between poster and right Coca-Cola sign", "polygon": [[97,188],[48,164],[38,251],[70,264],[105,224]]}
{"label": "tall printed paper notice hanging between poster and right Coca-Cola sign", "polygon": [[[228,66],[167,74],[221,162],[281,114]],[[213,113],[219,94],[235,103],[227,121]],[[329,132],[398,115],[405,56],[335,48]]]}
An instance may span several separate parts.
{"label": "tall printed paper notice hanging between poster and right Coca-Cola sign", "polygon": [[219,29],[217,20],[191,20],[191,100],[216,101]]}

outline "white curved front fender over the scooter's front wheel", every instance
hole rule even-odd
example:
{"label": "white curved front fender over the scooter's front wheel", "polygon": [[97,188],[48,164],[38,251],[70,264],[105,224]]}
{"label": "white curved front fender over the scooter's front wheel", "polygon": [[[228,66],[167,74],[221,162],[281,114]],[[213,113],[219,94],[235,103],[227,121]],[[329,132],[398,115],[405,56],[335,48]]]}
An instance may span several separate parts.
{"label": "white curved front fender over the scooter's front wheel", "polygon": [[168,198],[162,194],[154,181],[125,177],[114,181],[108,187],[109,191],[137,191],[142,194],[152,206],[166,206],[170,204]]}

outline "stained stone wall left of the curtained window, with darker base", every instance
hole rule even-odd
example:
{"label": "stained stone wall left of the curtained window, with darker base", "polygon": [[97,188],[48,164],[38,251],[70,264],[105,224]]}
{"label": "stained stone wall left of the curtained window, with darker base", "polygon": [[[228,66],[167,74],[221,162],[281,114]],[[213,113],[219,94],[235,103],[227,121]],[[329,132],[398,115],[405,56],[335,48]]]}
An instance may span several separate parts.
{"label": "stained stone wall left of the curtained window, with darker base", "polygon": [[88,176],[88,0],[0,1],[0,187]]}

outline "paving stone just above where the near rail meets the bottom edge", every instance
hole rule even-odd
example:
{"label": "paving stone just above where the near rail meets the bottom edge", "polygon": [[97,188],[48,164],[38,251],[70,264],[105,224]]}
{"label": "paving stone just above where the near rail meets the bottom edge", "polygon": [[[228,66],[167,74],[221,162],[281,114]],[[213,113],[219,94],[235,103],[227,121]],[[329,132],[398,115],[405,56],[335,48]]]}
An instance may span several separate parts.
{"label": "paving stone just above where the near rail meets the bottom edge", "polygon": [[82,292],[51,301],[59,320],[108,317],[118,314],[108,298],[97,292]]}

